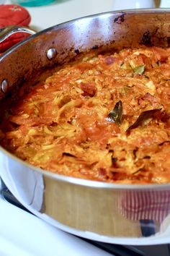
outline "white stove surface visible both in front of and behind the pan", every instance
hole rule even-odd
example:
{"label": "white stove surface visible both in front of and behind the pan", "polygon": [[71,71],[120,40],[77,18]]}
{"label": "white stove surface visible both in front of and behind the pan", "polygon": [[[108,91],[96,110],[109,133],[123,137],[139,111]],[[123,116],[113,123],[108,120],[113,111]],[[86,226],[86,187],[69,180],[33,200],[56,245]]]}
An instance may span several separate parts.
{"label": "white stove surface visible both in front of and behind the pan", "polygon": [[[151,3],[149,0],[137,1],[140,4],[147,4],[147,6],[138,5],[138,7],[149,7],[148,3]],[[118,4],[116,0],[56,0],[48,6],[29,7],[27,10],[32,17],[30,27],[38,31],[89,14],[112,11],[118,7],[120,8],[120,2],[124,4],[122,9],[128,9],[127,3],[132,4],[132,1],[127,0],[117,0]],[[10,3],[11,1],[6,1],[6,4]],[[160,7],[170,7],[170,0],[162,0]],[[1,256],[170,255],[169,244],[137,248],[87,242],[50,226],[40,218],[7,202],[1,196],[0,216]]]}

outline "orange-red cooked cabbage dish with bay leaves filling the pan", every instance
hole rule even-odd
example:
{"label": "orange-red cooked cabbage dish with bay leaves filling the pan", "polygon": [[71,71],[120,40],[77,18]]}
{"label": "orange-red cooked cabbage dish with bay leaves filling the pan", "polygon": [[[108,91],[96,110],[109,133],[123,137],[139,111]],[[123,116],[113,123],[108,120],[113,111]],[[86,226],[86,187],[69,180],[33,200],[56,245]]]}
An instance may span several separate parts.
{"label": "orange-red cooked cabbage dish with bay leaves filling the pan", "polygon": [[102,182],[170,182],[170,48],[89,52],[5,113],[1,145],[42,169]]}

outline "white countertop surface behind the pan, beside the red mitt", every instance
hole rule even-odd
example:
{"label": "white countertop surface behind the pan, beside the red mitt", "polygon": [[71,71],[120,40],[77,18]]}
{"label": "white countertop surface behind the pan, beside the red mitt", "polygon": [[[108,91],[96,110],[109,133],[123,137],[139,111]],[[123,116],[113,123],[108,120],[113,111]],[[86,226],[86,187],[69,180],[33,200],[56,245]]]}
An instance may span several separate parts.
{"label": "white countertop surface behind the pan, beside the red mitt", "polygon": [[[148,4],[148,2],[149,0],[141,1],[140,7],[149,7],[150,4]],[[156,1],[156,3],[157,2],[158,1]],[[12,1],[10,0],[6,1],[6,4],[11,3]],[[132,1],[124,0],[121,4],[122,9],[133,7]],[[68,20],[100,12],[113,11],[118,7],[120,7],[120,0],[55,0],[42,7],[27,7],[26,9],[30,12],[32,17],[30,26],[40,31]],[[170,7],[170,0],[161,0],[160,7]]]}

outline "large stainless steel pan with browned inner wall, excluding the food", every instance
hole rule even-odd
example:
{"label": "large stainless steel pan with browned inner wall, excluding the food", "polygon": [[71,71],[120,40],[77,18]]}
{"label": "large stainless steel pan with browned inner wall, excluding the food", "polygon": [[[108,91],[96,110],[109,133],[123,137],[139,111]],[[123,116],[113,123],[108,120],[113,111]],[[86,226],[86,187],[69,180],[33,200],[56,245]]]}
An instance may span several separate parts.
{"label": "large stainless steel pan with browned inner wall, excluding the food", "polygon": [[[91,48],[166,47],[169,43],[170,10],[164,9],[108,12],[50,27],[1,56],[1,101],[15,98],[19,87],[35,80],[42,70]],[[0,166],[1,177],[14,196],[59,229],[119,244],[170,242],[170,184],[107,184],[52,174],[4,148]]]}

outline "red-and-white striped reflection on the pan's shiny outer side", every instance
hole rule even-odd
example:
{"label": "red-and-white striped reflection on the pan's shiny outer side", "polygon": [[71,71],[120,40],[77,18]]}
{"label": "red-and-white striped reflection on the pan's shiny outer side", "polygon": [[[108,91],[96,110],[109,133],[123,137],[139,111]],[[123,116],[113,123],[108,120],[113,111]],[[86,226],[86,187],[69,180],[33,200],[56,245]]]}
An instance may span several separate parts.
{"label": "red-and-white striped reflection on the pan's shiny outer side", "polygon": [[133,221],[161,223],[170,213],[170,191],[125,191],[119,201],[120,212]]}

